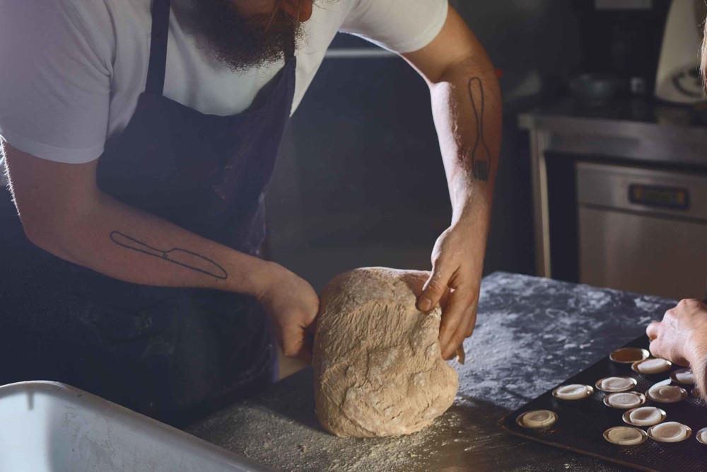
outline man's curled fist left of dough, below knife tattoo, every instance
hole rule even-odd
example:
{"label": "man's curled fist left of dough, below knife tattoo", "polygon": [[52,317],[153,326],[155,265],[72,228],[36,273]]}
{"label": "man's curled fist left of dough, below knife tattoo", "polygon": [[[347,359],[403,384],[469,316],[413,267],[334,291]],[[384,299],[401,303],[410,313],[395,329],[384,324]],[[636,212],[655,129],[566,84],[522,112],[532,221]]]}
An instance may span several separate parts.
{"label": "man's curled fist left of dough, below knife tattoo", "polygon": [[312,286],[281,265],[272,264],[271,275],[257,298],[284,355],[311,362],[319,312],[319,297]]}

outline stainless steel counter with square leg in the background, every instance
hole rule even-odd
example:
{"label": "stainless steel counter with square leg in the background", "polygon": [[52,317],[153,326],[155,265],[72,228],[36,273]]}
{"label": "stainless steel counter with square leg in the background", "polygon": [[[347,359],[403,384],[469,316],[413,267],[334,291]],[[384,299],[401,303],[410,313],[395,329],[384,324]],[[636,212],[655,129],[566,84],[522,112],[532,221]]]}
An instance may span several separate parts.
{"label": "stainless steel counter with square leg in the background", "polygon": [[551,277],[546,156],[617,159],[641,165],[707,168],[705,111],[660,105],[646,98],[583,107],[566,100],[518,115],[530,132],[537,275]]}

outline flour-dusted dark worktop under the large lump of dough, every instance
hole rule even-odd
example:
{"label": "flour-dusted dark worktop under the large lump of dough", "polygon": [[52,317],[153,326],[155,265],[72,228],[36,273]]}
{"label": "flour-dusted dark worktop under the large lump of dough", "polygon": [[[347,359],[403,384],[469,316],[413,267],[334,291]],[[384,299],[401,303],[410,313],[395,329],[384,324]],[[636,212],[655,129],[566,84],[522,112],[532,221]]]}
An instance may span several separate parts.
{"label": "flour-dusted dark worktop under the large lump of dough", "polygon": [[421,432],[338,438],[314,414],[305,369],[255,399],[194,425],[202,439],[277,471],[626,471],[513,437],[498,420],[644,332],[674,301],[496,272],[481,285],[479,318],[452,362],[452,408]]}

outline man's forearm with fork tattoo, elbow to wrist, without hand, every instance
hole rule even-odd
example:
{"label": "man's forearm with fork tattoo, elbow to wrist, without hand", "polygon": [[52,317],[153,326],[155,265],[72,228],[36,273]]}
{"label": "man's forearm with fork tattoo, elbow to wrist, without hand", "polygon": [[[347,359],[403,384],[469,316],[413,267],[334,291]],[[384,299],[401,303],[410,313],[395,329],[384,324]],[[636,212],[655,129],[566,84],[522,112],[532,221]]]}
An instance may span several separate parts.
{"label": "man's forearm with fork tattoo, elbow to wrist, without hand", "polygon": [[474,221],[485,233],[501,147],[501,93],[486,54],[450,67],[431,95],[452,224]]}

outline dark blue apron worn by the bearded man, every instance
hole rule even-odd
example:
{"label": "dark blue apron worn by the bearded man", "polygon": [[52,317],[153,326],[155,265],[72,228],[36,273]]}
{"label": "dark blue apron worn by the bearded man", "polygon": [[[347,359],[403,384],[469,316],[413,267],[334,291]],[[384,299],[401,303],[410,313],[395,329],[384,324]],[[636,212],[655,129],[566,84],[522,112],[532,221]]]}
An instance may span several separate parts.
{"label": "dark blue apron worn by the bearded man", "polygon": [[[98,161],[103,192],[259,255],[264,195],[292,106],[296,59],[257,109],[205,115],[163,97],[169,0],[153,0],[146,90]],[[0,384],[63,381],[173,425],[271,384],[277,353],[252,297],[130,284],[55,258],[0,209]]]}

